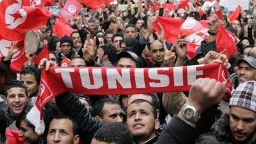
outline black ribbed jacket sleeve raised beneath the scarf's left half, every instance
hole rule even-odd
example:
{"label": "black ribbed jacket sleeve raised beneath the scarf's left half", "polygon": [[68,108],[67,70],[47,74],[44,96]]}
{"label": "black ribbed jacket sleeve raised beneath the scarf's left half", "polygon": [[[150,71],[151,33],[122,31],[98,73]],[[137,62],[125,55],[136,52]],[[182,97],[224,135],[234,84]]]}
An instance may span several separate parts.
{"label": "black ribbed jacket sleeve raised beneath the scarf's left half", "polygon": [[75,119],[79,124],[81,141],[90,144],[95,132],[104,125],[103,121],[93,118],[74,93],[63,93],[55,98],[61,112]]}

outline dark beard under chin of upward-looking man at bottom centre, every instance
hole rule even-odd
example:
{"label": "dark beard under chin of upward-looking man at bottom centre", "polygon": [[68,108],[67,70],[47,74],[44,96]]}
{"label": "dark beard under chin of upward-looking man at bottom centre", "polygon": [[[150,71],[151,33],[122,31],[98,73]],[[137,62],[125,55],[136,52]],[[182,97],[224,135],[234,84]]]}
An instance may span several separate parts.
{"label": "dark beard under chin of upward-looking man at bottom centre", "polygon": [[155,132],[155,124],[152,124],[152,127],[146,132],[139,132],[133,134],[134,141],[147,141],[151,138],[151,135]]}

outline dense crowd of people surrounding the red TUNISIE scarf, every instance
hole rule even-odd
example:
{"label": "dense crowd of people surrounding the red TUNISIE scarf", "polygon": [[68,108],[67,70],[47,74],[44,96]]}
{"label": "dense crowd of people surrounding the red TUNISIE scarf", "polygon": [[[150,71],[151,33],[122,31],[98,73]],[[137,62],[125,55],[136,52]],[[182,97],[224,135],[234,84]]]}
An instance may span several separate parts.
{"label": "dense crowd of people surrounding the red TUNISIE scarf", "polygon": [[[171,14],[163,5],[173,4],[174,0],[117,0],[117,4],[102,5],[96,11],[82,5],[80,14],[68,23],[76,31],[64,37],[52,32],[58,15],[49,18],[37,30],[41,41],[38,45],[48,47],[49,59],[43,58],[37,65],[33,62],[36,54],[26,50],[27,61],[21,72],[15,73],[10,65],[18,47],[12,46],[0,61],[0,144],[8,144],[7,130],[19,130],[18,136],[24,144],[255,144],[253,18],[242,10],[239,18],[230,22],[229,13],[218,4],[199,14],[205,2],[189,0],[184,12],[174,10]],[[158,9],[154,9],[155,3]],[[65,0],[55,0],[53,6],[64,4]],[[127,8],[120,10],[118,4],[127,4]],[[251,7],[254,10],[253,4]],[[214,9],[221,9],[221,20]],[[160,32],[153,32],[157,17],[207,20],[209,37],[201,42],[195,57],[189,59],[185,35],[170,43],[160,23]],[[230,58],[225,51],[216,52],[220,25],[236,37],[238,53]],[[64,59],[70,60],[68,66],[75,67],[154,68],[220,63],[227,67],[233,86],[228,112],[220,109],[227,81],[210,78],[198,78],[189,92],[133,95],[65,92],[45,105],[46,128],[38,135],[26,114],[37,99],[41,71],[61,66]]]}

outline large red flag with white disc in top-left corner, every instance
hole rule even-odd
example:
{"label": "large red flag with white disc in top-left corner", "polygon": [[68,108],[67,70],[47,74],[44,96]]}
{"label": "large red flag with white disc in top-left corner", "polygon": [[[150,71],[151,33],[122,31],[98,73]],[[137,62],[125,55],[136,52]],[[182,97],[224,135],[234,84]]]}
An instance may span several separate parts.
{"label": "large red flag with white disc in top-left corner", "polygon": [[0,1],[0,37],[20,40],[25,32],[39,29],[51,14],[46,9],[22,6],[22,0]]}

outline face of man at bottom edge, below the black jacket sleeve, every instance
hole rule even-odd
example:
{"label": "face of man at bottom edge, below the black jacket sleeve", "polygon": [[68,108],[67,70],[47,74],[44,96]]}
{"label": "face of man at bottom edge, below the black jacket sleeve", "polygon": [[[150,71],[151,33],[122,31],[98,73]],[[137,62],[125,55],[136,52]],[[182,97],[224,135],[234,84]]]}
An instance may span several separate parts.
{"label": "face of man at bottom edge, below the black jacket sleeve", "polygon": [[49,125],[47,144],[78,144],[79,136],[73,133],[69,119],[53,119]]}

